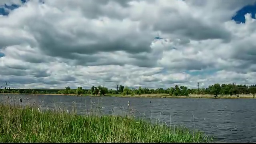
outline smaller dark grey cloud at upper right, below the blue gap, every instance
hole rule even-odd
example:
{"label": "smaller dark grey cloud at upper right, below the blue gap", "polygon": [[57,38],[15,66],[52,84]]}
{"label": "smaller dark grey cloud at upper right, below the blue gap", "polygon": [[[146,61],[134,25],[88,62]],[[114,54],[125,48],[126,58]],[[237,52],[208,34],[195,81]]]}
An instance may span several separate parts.
{"label": "smaller dark grey cloud at upper right, below the blue gap", "polygon": [[179,20],[163,19],[154,25],[154,29],[161,30],[163,33],[185,36],[192,40],[223,39],[228,42],[231,38],[230,32],[221,26],[206,26],[189,17]]}

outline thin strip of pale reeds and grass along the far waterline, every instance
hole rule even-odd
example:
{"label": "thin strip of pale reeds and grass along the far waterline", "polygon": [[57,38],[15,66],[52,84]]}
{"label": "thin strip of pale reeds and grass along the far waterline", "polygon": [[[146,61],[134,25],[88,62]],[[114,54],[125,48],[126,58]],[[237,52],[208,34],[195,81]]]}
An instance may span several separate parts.
{"label": "thin strip of pale reeds and grass along the far waterline", "polygon": [[[0,93],[0,94],[14,94],[14,93]],[[92,97],[101,97],[92,94],[31,94],[31,95],[52,95],[52,96],[92,96]],[[122,94],[105,94],[103,97],[123,97],[123,98],[214,98],[214,95],[204,94],[204,95],[197,95],[197,94],[189,94],[189,96],[170,96],[169,94],[141,94],[141,95],[122,95]],[[229,96],[218,96],[220,99],[237,99],[236,95]],[[240,94],[239,98],[255,98],[252,94]],[[214,98],[216,99],[216,98]]]}

